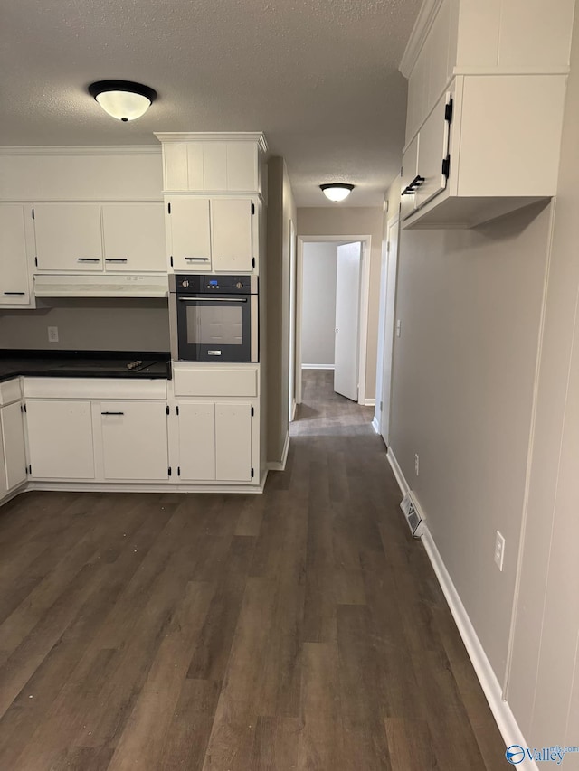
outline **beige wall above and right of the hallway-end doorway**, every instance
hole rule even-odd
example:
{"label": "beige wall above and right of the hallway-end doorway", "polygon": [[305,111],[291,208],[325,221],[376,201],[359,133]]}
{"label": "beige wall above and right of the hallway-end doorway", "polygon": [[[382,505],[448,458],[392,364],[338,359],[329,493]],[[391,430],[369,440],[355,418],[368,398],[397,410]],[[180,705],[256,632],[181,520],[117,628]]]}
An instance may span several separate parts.
{"label": "beige wall above and right of the hallway-end doorway", "polygon": [[372,237],[370,254],[370,293],[368,297],[368,337],[365,361],[365,398],[375,398],[376,350],[378,345],[378,306],[380,301],[380,259],[382,254],[382,207],[311,207],[298,210],[299,236]]}

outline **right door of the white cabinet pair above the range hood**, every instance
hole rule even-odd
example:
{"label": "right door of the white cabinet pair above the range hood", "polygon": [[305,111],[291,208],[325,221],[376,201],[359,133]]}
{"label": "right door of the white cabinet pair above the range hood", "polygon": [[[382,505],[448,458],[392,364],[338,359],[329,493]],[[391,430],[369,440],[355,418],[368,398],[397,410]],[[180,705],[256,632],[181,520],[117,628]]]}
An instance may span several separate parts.
{"label": "right door of the white cabinet pair above the range hood", "polygon": [[162,203],[107,203],[102,233],[107,273],[166,271]]}

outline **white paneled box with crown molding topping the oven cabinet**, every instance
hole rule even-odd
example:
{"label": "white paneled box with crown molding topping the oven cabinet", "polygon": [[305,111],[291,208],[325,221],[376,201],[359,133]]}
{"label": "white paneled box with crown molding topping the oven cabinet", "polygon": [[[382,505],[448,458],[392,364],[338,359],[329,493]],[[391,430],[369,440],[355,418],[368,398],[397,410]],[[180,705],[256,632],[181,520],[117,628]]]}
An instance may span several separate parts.
{"label": "white paneled box with crown molding topping the oven cabinet", "polygon": [[261,193],[260,133],[157,134],[166,193]]}

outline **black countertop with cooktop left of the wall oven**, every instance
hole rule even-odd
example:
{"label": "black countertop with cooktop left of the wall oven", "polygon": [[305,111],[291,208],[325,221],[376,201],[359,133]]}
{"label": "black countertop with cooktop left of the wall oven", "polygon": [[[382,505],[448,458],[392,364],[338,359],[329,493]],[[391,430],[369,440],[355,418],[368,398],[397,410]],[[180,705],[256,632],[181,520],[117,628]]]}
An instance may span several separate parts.
{"label": "black countertop with cooktop left of the wall oven", "polygon": [[[142,362],[129,369],[128,363]],[[170,380],[171,354],[134,351],[22,351],[0,349],[0,382],[18,375],[43,378]]]}

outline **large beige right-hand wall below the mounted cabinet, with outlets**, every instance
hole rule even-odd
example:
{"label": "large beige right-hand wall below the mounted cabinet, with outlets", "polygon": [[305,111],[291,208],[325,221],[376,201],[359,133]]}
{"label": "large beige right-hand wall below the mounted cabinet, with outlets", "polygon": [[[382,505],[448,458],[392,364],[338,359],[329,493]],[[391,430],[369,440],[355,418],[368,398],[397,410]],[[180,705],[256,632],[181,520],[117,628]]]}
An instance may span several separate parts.
{"label": "large beige right-hand wall below the mounted cabinet, with outlets", "polygon": [[403,230],[397,287],[394,455],[534,747],[579,744],[577,24],[556,199]]}

